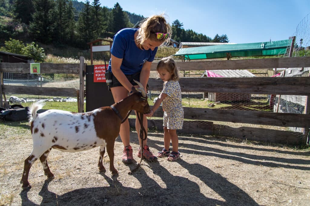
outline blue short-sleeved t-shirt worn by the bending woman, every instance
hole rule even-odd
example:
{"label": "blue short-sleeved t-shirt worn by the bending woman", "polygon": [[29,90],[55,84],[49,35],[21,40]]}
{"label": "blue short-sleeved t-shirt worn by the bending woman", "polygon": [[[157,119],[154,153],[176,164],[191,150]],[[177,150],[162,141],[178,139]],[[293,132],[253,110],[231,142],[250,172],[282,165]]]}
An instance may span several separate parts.
{"label": "blue short-sleeved t-shirt worn by the bending woman", "polygon": [[[135,32],[138,28],[125,28],[117,32],[113,37],[111,54],[115,57],[123,59],[121,70],[124,74],[135,74],[140,72],[146,61],[152,62],[157,52],[151,49],[141,50],[135,44]],[[108,70],[111,71],[111,59]]]}

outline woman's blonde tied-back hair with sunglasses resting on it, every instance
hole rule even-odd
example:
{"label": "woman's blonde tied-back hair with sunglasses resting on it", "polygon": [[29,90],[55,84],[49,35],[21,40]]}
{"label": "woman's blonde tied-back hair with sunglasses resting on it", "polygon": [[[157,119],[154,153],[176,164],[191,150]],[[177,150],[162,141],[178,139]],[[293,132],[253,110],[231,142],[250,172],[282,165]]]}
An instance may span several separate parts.
{"label": "woman's blonde tied-back hair with sunglasses resting on it", "polygon": [[[137,36],[137,42],[139,44],[143,44],[148,38],[152,41],[158,41],[161,43],[170,41],[171,27],[163,15],[150,16],[147,19],[144,19],[139,26],[140,28]],[[169,33],[170,35],[167,39],[157,39],[155,34],[156,32]]]}

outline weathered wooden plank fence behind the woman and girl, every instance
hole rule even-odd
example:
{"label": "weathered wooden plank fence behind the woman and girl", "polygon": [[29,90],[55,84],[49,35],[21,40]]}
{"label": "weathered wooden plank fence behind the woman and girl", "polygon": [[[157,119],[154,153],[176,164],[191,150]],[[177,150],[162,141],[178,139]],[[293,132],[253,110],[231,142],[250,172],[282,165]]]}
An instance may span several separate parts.
{"label": "weathered wooden plank fence behind the woman and girl", "polygon": [[[151,70],[156,70],[156,63]],[[269,58],[251,60],[224,60],[224,61],[195,61],[178,62],[180,71],[183,70],[212,70],[212,69],[269,69],[269,68],[296,68],[310,67],[310,57]],[[79,111],[84,108],[84,58],[80,58],[80,64],[51,64],[42,63],[41,73],[65,73],[80,74],[80,99]],[[0,63],[0,72],[29,73],[29,64]],[[77,90],[72,88],[48,88],[36,87],[35,90],[27,86],[3,85],[2,93],[13,92],[29,95],[52,96],[76,96]],[[180,78],[182,92],[219,92],[242,94],[277,94],[277,95],[310,95],[310,77],[256,77],[256,78]],[[162,80],[150,78],[149,90],[161,91]],[[87,92],[87,91],[86,91]],[[236,137],[253,141],[284,143],[290,145],[304,145],[307,143],[307,135],[310,127],[309,98],[306,100],[304,114],[273,113],[263,111],[239,111],[232,109],[190,108],[184,107],[184,127],[180,132],[188,134],[215,135],[224,137]],[[163,112],[159,108],[154,116],[162,117]],[[190,121],[189,121],[190,120]],[[221,124],[213,124],[212,121],[270,125],[281,127],[303,128],[303,132],[291,132],[275,129],[239,127],[233,128]],[[130,119],[131,126],[135,125],[135,119]],[[156,127],[163,130],[162,120],[148,120],[148,127]],[[266,135],[268,134],[268,135]]]}

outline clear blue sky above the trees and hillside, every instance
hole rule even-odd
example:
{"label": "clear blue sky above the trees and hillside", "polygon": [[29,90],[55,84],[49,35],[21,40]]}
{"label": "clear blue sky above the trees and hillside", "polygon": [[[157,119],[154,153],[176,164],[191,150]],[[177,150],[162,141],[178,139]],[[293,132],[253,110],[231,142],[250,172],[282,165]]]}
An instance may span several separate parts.
{"label": "clear blue sky above the trees and hillside", "polygon": [[237,44],[288,39],[310,13],[310,0],[100,0],[108,8],[116,2],[124,11],[144,17],[165,13],[170,24],[178,19],[185,30],[212,39],[226,34]]}

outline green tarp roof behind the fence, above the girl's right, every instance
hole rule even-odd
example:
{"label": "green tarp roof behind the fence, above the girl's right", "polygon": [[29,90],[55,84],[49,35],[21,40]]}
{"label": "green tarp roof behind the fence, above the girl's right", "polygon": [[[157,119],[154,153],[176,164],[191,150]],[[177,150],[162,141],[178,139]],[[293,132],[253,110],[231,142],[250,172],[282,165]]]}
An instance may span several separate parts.
{"label": "green tarp roof behind the fence, above the girl's right", "polygon": [[225,44],[216,46],[180,48],[173,56],[183,56],[185,59],[213,59],[227,57],[269,56],[285,54],[292,40],[267,41],[248,44]]}

